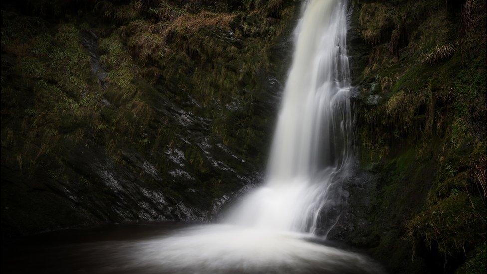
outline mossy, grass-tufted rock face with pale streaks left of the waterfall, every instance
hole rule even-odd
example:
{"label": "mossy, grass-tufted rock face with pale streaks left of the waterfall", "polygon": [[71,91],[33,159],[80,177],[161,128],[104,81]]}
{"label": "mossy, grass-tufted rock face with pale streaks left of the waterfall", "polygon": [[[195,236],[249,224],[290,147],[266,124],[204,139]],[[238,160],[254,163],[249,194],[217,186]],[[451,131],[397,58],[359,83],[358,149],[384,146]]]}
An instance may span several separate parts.
{"label": "mossy, grass-tufted rock face with pale streaks left of the waterfall", "polygon": [[296,6],[2,5],[2,233],[214,218],[265,168]]}

